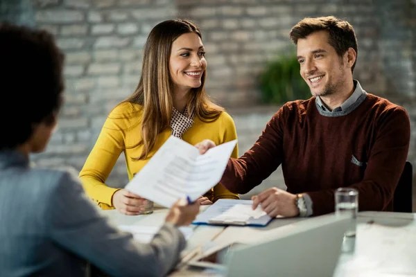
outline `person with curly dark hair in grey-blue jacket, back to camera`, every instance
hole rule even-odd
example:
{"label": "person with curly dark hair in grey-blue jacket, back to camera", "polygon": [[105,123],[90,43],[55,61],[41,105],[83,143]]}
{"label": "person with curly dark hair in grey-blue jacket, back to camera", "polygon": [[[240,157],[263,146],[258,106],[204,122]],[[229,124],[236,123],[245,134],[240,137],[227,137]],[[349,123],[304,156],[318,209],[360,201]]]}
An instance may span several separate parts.
{"label": "person with curly dark hair in grey-blue jacket, back to camera", "polygon": [[199,204],[178,200],[149,244],[101,217],[76,175],[33,168],[63,103],[64,55],[44,30],[0,24],[0,275],[85,276],[86,261],[110,276],[164,276]]}

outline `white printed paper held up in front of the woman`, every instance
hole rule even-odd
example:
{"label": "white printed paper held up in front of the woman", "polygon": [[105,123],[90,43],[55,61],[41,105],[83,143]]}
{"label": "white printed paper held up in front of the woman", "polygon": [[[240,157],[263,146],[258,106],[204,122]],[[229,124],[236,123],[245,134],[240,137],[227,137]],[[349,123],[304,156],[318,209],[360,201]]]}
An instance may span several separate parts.
{"label": "white printed paper held up in front of the woman", "polygon": [[125,189],[167,208],[187,196],[195,201],[223,177],[236,143],[217,145],[201,155],[195,146],[171,136]]}

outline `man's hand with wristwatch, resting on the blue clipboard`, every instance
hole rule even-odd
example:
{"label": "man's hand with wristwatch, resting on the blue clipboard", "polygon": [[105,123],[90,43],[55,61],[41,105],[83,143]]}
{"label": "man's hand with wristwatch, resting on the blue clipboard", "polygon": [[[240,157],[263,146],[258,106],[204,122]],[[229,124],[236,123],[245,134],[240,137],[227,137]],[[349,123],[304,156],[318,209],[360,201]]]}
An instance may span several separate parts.
{"label": "man's hand with wristwatch, resting on the blue clipboard", "polygon": [[295,198],[296,195],[280,188],[269,188],[264,190],[263,193],[252,197],[252,208],[254,210],[260,204],[261,209],[270,217],[276,217],[277,215],[295,217],[299,215],[299,210],[295,205]]}

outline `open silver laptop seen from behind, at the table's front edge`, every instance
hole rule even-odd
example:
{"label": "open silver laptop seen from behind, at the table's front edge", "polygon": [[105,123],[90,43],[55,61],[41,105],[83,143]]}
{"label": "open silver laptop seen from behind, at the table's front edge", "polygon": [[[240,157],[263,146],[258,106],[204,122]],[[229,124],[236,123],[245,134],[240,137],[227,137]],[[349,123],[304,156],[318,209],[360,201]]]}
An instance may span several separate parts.
{"label": "open silver laptop seen from behind, at the table's front edge", "polygon": [[333,276],[351,224],[351,219],[333,214],[312,217],[262,233],[257,242],[232,242],[209,251],[191,265],[229,277]]}

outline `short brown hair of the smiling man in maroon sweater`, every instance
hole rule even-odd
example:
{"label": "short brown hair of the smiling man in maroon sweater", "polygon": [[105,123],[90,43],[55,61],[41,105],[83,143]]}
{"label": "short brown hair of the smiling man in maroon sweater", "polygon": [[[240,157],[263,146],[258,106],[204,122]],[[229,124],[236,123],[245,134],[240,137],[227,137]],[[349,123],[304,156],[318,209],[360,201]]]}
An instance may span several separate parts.
{"label": "short brown hair of the smiling man in maroon sweater", "polygon": [[[342,57],[348,48],[353,48],[358,54],[358,43],[354,28],[348,21],[336,17],[306,17],[299,21],[291,30],[291,40],[297,45],[298,39],[304,39],[320,30],[328,33],[328,43],[335,48],[336,53]],[[352,65],[354,72],[356,62]]]}

